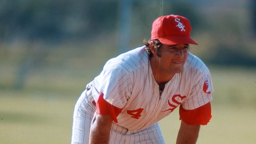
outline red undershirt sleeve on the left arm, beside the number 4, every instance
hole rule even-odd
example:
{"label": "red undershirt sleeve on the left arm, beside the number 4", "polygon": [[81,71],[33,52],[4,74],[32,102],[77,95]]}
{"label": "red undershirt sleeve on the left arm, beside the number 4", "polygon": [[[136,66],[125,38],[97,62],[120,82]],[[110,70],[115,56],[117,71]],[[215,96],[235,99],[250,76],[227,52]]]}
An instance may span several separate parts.
{"label": "red undershirt sleeve on the left arm, beside the number 4", "polygon": [[99,97],[96,101],[96,113],[100,115],[110,115],[115,123],[117,122],[117,116],[121,113],[122,109],[113,106],[108,103],[104,98],[104,94],[100,92]]}

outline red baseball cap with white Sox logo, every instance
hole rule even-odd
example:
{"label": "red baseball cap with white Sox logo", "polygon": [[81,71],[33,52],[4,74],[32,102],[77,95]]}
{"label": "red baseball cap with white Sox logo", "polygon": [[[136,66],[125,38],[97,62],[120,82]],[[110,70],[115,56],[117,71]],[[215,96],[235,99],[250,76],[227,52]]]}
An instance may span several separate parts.
{"label": "red baseball cap with white Sox logo", "polygon": [[167,15],[157,18],[152,24],[151,40],[158,39],[167,45],[196,44],[190,38],[191,25],[187,18],[179,15]]}

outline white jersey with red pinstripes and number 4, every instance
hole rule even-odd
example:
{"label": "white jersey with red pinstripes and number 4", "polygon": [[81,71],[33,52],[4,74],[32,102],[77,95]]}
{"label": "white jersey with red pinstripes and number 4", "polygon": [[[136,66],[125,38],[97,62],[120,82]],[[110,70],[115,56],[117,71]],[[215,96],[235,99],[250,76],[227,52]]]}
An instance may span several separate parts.
{"label": "white jersey with red pinstripes and number 4", "polygon": [[145,46],[107,61],[92,85],[90,101],[102,92],[107,102],[122,108],[117,124],[129,130],[152,126],[179,104],[187,110],[207,104],[213,91],[208,68],[189,53],[182,72],[165,84],[160,99]]}

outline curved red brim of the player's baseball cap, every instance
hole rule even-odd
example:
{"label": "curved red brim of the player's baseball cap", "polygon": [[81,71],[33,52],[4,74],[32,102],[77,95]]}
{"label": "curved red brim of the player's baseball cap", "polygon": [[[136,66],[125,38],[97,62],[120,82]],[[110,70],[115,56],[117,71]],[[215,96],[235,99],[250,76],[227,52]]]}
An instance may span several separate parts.
{"label": "curved red brim of the player's baseball cap", "polygon": [[158,39],[161,43],[167,45],[176,45],[176,44],[196,44],[192,38],[185,35],[177,35],[177,36],[170,36],[170,37],[161,37]]}

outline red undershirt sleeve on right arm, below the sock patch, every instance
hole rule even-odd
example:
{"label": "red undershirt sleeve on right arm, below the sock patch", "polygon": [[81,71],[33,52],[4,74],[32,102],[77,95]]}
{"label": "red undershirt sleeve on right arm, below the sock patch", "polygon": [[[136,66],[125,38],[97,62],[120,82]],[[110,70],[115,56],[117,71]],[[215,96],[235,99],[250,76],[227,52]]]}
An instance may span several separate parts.
{"label": "red undershirt sleeve on right arm, below the sock patch", "polygon": [[194,110],[185,110],[180,106],[180,120],[183,120],[187,124],[200,124],[207,125],[212,118],[211,115],[211,103],[207,103]]}

